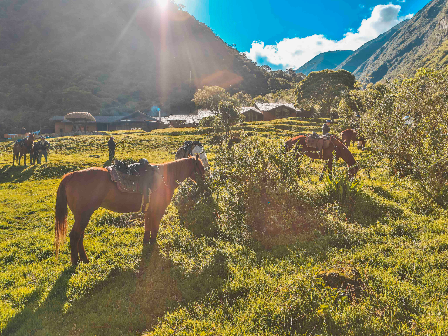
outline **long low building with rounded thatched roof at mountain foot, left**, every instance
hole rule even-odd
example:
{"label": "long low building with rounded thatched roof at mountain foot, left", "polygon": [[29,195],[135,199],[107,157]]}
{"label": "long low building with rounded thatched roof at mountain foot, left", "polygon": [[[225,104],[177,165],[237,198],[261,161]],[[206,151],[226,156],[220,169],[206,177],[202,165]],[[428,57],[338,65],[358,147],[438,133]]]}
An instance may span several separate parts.
{"label": "long low building with rounded thatched roof at mountain foot, left", "polygon": [[95,117],[88,112],[71,112],[65,116],[54,116],[50,121],[54,122],[54,132],[57,134],[130,130],[134,128],[151,131],[160,126],[155,118],[141,112],[134,112],[125,116]]}

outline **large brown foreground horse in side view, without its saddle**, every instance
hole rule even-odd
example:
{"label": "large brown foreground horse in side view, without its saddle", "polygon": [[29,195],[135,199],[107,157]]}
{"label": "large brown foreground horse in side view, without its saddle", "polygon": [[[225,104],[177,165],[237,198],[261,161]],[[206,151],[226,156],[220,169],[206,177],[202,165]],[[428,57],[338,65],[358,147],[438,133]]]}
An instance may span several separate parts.
{"label": "large brown foreground horse in side view, without its saddle", "polygon": [[[155,181],[151,190],[151,198],[145,210],[145,234],[143,243],[156,242],[160,220],[171,202],[174,190],[180,182],[190,177],[196,181],[205,173],[201,160],[196,157],[180,159],[157,165],[162,178]],[[137,212],[142,204],[142,195],[124,193],[118,190],[111,181],[106,168],[93,167],[66,174],[56,196],[55,207],[55,245],[56,255],[59,245],[67,233],[67,205],[73,212],[75,223],[70,232],[71,261],[76,265],[79,261],[89,262],[84,250],[84,230],[93,212],[99,207],[115,212]]]}

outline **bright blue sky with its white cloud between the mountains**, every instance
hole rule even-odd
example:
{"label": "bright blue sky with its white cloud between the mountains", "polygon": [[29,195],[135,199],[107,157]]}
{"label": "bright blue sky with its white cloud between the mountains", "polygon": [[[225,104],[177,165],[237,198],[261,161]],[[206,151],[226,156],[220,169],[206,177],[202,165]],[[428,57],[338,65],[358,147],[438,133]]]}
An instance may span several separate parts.
{"label": "bright blue sky with its white cloud between the mountains", "polygon": [[429,0],[175,0],[258,65],[297,69],[332,50],[356,50]]}

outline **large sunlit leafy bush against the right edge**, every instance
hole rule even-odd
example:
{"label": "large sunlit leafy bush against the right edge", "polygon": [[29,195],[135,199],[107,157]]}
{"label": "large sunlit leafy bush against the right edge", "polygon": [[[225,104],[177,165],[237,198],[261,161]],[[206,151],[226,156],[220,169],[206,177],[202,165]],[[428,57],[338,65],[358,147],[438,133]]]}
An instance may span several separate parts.
{"label": "large sunlit leafy bush against the right edge", "polygon": [[[448,204],[448,71],[420,69],[415,77],[395,81],[380,95],[368,90],[372,105],[361,120],[379,160],[391,173],[411,175],[421,192]],[[406,124],[404,117],[413,122]]]}

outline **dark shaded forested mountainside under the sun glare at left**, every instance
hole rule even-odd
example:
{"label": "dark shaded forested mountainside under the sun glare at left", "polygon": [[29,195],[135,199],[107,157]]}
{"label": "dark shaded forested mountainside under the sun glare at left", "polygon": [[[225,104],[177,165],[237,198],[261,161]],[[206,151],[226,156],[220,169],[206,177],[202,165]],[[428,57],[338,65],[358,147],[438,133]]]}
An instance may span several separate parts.
{"label": "dark shaded forested mountainside under the sun glare at left", "polygon": [[270,76],[175,4],[0,2],[3,130],[37,129],[71,111],[186,112],[199,87],[265,94]]}

